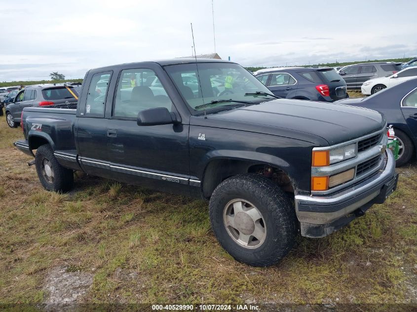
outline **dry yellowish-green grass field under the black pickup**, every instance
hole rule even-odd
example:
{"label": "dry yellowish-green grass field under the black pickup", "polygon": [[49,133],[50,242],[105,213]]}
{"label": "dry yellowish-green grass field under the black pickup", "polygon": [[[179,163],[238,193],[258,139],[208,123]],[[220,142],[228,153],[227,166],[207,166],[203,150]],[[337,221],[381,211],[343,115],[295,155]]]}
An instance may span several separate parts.
{"label": "dry yellowish-green grass field under the black pickup", "polygon": [[[399,170],[399,190],[386,204],[327,238],[300,238],[274,267],[252,268],[217,243],[206,202],[78,173],[74,192],[49,193],[26,165],[30,157],[11,145],[20,129],[0,117],[0,134],[3,303],[41,301],[46,272],[62,264],[93,272],[86,302],[410,300],[404,281],[416,274],[416,162]],[[117,268],[137,272],[140,284],[115,279]]]}

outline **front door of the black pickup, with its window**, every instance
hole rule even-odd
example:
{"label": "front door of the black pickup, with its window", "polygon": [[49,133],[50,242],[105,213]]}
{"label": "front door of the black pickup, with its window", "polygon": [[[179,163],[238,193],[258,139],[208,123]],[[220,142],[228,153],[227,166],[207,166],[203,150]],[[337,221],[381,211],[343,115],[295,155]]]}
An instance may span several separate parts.
{"label": "front door of the black pickup, with its window", "polygon": [[[107,123],[110,167],[118,180],[149,188],[189,192],[189,125],[138,126],[140,111],[165,107],[178,114],[155,70],[123,69]],[[135,80],[135,86],[125,81]],[[192,79],[191,83],[192,83]],[[192,84],[188,85],[190,93]]]}

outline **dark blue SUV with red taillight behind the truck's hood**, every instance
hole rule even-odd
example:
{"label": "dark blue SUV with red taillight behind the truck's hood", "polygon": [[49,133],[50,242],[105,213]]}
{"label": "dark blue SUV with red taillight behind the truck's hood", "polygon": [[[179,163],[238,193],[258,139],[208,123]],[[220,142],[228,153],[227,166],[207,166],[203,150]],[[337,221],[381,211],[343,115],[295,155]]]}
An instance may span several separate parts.
{"label": "dark blue SUV with red taillight behind the truck's hood", "polygon": [[346,83],[333,68],[272,68],[254,75],[281,98],[333,102],[347,97]]}

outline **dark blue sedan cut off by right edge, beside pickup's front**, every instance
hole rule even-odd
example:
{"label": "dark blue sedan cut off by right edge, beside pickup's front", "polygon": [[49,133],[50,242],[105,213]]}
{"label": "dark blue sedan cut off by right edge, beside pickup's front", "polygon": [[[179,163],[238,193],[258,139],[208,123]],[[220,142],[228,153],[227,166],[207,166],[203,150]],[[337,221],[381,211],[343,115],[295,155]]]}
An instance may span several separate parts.
{"label": "dark blue sedan cut off by right edge, beside pickup's front", "polygon": [[400,144],[397,166],[407,163],[417,152],[417,78],[386,88],[368,98],[337,101],[378,110],[394,126],[395,138]]}

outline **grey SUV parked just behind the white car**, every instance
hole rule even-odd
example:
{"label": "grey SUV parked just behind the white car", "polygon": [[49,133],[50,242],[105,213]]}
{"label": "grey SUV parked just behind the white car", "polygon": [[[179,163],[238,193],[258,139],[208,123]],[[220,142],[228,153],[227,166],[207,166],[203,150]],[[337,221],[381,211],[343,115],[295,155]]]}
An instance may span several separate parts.
{"label": "grey SUV parked just behind the white car", "polygon": [[369,79],[386,77],[401,69],[399,63],[362,63],[341,69],[339,74],[346,81],[347,89],[360,89],[362,84]]}

